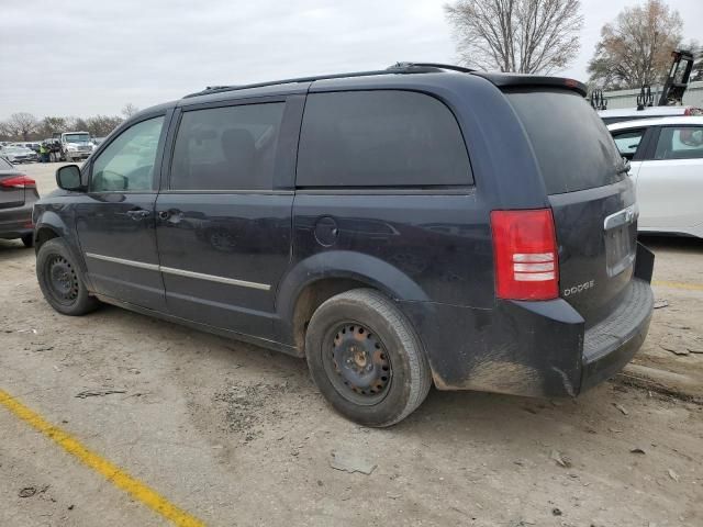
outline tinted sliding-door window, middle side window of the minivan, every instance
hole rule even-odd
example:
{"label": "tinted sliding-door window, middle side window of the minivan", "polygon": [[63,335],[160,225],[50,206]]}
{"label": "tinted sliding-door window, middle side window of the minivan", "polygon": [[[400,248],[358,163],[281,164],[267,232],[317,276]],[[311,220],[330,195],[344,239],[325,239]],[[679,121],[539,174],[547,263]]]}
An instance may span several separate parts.
{"label": "tinted sliding-door window, middle side window of the minivan", "polygon": [[185,112],[170,188],[271,189],[283,106],[277,102]]}

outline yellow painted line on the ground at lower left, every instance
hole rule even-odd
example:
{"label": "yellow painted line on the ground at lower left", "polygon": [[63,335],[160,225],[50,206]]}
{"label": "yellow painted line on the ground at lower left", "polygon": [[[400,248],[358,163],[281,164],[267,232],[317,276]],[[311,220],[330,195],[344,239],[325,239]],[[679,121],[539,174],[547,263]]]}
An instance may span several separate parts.
{"label": "yellow painted line on the ground at lower left", "polygon": [[114,486],[123,490],[133,498],[142,502],[144,505],[155,511],[164,518],[172,522],[175,525],[180,527],[202,527],[205,525],[198,518],[194,518],[185,511],[178,508],[156,491],[149,489],[140,480],[131,476],[115,464],[112,464],[110,461],[101,458],[97,453],[91,452],[88,448],[83,447],[80,441],[72,438],[60,428],[46,422],[41,415],[31,411],[2,390],[0,390],[0,404],[31,427],[52,439],[68,453],[78,458],[82,463],[103,475]]}

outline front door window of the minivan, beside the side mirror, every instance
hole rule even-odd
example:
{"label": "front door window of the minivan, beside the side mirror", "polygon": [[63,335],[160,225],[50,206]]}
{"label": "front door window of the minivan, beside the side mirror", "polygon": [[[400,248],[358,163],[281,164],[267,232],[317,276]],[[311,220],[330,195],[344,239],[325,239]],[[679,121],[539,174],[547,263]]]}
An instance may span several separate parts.
{"label": "front door window of the minivan, beside the side mirror", "polygon": [[146,191],[154,188],[154,162],[164,117],[129,127],[92,164],[92,192]]}

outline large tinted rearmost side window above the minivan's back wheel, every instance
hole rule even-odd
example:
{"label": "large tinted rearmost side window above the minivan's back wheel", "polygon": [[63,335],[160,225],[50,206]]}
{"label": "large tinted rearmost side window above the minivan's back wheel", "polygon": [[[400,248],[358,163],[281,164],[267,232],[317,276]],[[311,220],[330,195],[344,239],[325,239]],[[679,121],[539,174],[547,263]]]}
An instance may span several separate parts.
{"label": "large tinted rearmost side window above the minivan's back wheel", "polygon": [[470,184],[456,119],[410,91],[313,93],[298,154],[299,187]]}

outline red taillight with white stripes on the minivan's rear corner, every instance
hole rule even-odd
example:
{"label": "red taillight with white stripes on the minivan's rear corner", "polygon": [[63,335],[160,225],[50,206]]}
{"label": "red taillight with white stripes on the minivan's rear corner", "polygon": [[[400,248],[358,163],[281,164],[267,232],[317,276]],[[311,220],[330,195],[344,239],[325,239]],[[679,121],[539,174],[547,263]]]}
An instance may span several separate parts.
{"label": "red taillight with white stripes on the minivan's rear corner", "polygon": [[549,209],[491,212],[495,294],[511,300],[559,295],[559,260]]}

